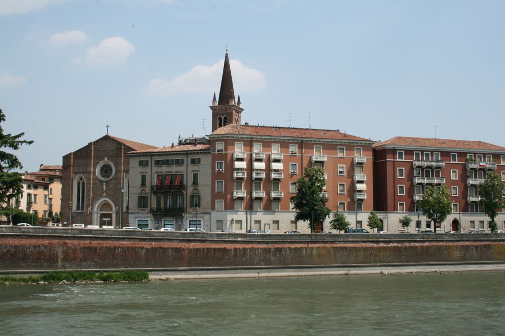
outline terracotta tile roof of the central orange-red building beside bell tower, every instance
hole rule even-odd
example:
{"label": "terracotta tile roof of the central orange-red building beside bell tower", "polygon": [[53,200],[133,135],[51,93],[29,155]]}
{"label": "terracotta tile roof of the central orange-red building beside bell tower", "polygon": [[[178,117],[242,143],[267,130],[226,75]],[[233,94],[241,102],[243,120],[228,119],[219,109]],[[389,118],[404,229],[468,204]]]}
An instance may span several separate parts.
{"label": "terracotta tile roof of the central orange-red building beside bell tower", "polygon": [[246,135],[246,136],[269,136],[277,138],[308,138],[308,139],[331,139],[348,141],[369,141],[345,132],[333,129],[295,128],[277,126],[252,126],[229,124],[216,129],[214,135]]}

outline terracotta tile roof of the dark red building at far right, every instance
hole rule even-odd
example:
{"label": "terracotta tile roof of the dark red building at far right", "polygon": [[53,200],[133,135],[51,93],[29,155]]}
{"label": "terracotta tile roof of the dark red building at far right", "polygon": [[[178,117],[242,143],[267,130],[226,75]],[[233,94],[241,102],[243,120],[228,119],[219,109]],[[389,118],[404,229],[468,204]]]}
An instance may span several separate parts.
{"label": "terracotta tile roof of the dark red building at far right", "polygon": [[482,141],[414,138],[414,137],[394,137],[389,140],[374,144],[374,148],[382,146],[431,147],[431,148],[505,151],[505,147],[496,146]]}

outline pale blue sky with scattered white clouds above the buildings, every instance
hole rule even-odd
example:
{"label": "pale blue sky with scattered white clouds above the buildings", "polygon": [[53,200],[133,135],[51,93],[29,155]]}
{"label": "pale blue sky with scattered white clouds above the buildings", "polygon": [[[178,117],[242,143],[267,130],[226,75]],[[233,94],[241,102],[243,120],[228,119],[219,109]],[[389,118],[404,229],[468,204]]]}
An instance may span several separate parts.
{"label": "pale blue sky with scattered white clouds above the buildings", "polygon": [[107,133],[208,135],[228,48],[242,122],[505,147],[505,2],[0,0],[0,108],[24,168]]}

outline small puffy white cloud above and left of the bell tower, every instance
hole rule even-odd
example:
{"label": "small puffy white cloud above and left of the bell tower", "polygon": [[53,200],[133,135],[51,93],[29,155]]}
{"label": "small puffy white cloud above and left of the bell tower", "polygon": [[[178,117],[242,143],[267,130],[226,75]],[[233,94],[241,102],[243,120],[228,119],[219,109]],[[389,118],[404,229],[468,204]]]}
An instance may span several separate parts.
{"label": "small puffy white cloud above and left of the bell tower", "polygon": [[75,63],[86,62],[88,64],[115,64],[124,61],[129,54],[135,51],[133,44],[124,38],[106,38],[100,44],[88,49],[86,57],[74,59]]}

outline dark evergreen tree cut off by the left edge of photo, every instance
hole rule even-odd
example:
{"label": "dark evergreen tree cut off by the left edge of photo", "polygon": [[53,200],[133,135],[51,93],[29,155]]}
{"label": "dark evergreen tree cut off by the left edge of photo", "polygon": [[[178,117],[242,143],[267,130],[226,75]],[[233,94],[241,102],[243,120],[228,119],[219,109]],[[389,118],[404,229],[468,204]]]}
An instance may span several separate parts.
{"label": "dark evergreen tree cut off by the left edge of photo", "polygon": [[2,149],[7,148],[13,151],[18,150],[22,145],[31,145],[33,141],[20,140],[25,133],[18,135],[4,134],[2,122],[6,120],[5,114],[0,109],[0,213],[6,215],[10,210],[6,206],[8,201],[16,195],[23,193],[21,184],[21,173],[14,172],[15,169],[22,169],[23,166],[17,156],[7,153]]}

